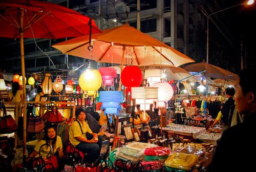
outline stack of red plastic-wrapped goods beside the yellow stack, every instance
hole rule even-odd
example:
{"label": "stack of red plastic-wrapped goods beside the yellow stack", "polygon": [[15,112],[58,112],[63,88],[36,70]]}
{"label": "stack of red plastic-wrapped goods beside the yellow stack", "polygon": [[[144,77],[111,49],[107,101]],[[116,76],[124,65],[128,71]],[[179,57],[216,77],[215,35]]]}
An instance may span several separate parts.
{"label": "stack of red plastic-wrapped goods beside the yellow stack", "polygon": [[168,158],[170,150],[168,147],[151,147],[146,148],[144,151],[145,161],[164,161]]}

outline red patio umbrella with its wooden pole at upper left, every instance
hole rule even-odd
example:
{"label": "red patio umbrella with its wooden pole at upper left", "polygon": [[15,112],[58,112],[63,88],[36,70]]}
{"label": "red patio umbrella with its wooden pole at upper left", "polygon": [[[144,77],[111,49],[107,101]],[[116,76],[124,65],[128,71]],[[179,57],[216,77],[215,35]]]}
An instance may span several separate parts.
{"label": "red patio umbrella with its wooden pole at upper left", "polygon": [[[0,1],[0,37],[20,38],[22,76],[25,78],[24,38],[77,37],[99,33],[95,22],[76,11],[48,2],[33,0]],[[25,87],[23,79],[23,88]],[[26,89],[23,89],[24,112],[27,109]],[[23,155],[26,158],[26,113],[23,122]]]}

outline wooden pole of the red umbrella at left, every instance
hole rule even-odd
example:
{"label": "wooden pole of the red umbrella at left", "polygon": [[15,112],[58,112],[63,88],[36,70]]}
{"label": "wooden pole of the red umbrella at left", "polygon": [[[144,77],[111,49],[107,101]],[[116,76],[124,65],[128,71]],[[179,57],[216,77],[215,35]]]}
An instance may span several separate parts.
{"label": "wooden pole of the red umbrella at left", "polygon": [[[24,10],[22,10],[21,17],[20,17],[20,26],[23,26],[23,17],[24,17]],[[23,30],[23,28],[21,28]],[[27,141],[27,94],[26,94],[26,82],[25,82],[25,58],[24,58],[24,38],[23,38],[23,31],[20,32],[20,58],[22,61],[22,83],[23,83],[23,166],[26,165],[26,141]]]}

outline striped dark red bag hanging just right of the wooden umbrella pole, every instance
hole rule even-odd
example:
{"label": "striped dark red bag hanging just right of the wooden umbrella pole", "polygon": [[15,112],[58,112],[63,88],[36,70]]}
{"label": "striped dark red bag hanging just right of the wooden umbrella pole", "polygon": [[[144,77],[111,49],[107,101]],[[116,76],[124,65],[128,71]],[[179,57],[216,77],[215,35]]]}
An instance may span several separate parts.
{"label": "striped dark red bag hanging just right of the wooden umbrella pole", "polygon": [[40,133],[44,127],[44,121],[40,116],[35,115],[35,107],[34,105],[28,105],[27,116],[28,116],[28,127],[27,133],[37,134]]}

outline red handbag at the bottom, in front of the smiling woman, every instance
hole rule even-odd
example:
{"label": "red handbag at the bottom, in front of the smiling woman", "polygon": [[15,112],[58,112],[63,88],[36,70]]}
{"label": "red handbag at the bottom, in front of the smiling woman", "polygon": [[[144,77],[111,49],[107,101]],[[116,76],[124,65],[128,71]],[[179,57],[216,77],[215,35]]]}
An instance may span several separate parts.
{"label": "red handbag at the bottom, in front of the smiling woman", "polygon": [[[50,151],[49,151],[46,159],[43,159],[41,154],[40,154],[41,148],[44,147],[44,146],[49,146],[50,147]],[[42,144],[40,146],[40,148],[39,148],[39,159],[33,163],[33,166],[34,167],[37,166],[38,163],[45,164],[45,168],[46,168],[47,171],[54,171],[58,168],[57,156],[53,155],[52,148],[49,144],[46,143],[46,144]]]}

